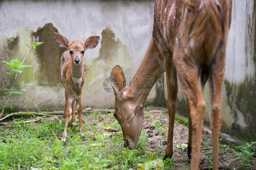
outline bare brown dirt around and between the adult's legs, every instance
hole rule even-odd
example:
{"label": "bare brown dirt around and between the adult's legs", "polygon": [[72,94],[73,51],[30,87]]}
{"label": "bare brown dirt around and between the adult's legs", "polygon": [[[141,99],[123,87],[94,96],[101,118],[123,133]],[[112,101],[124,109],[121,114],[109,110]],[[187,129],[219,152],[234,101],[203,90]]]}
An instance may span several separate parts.
{"label": "bare brown dirt around and between the adult's legs", "polygon": [[[143,127],[148,134],[148,147],[151,149],[160,149],[165,150],[167,133],[168,133],[168,113],[165,110],[145,110],[148,114],[145,114]],[[159,120],[163,125],[159,128],[156,125],[156,120]],[[157,121],[157,122],[159,122]],[[164,133],[163,133],[164,132]],[[175,167],[174,169],[189,169],[189,161],[187,156],[187,148],[182,147],[186,146],[188,143],[188,133],[189,130],[186,126],[175,121],[174,123],[174,155],[172,159],[174,160]],[[212,159],[212,141],[207,136],[202,136],[201,139],[201,155],[200,155],[200,169],[206,170],[211,168],[209,164],[209,159]],[[175,149],[176,148],[176,149]],[[242,159],[236,157],[234,151],[240,152],[230,148],[229,146],[222,144],[222,148],[219,150],[219,169],[225,170],[256,170],[256,158],[251,157],[251,168],[245,167],[245,164]]]}

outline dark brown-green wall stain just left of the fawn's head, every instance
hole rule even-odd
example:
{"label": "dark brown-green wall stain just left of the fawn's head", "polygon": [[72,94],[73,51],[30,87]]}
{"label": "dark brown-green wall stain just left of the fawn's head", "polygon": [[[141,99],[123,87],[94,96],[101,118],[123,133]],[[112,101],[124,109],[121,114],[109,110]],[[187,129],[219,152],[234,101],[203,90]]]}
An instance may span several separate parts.
{"label": "dark brown-green wall stain just left of the fawn's head", "polygon": [[58,30],[51,23],[48,23],[31,34],[38,38],[39,42],[44,42],[36,46],[36,57],[37,61],[40,62],[38,72],[36,72],[38,85],[56,86],[61,83],[61,55],[67,49],[56,44],[53,38],[54,32],[58,32]]}

